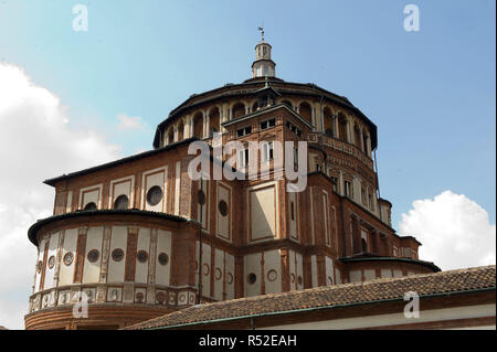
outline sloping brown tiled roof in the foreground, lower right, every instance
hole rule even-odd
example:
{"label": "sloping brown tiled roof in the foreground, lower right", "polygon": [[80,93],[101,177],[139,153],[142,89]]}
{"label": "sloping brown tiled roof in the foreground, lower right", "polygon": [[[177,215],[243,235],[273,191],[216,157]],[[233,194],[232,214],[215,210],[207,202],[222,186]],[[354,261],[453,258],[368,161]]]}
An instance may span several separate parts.
{"label": "sloping brown tiled roof in the foreground, lower right", "polygon": [[421,274],[401,278],[324,286],[299,291],[204,303],[155,318],[126,329],[156,329],[194,326],[216,320],[274,314],[316,308],[334,308],[385,300],[403,300],[408,291],[426,296],[495,290],[496,267]]}

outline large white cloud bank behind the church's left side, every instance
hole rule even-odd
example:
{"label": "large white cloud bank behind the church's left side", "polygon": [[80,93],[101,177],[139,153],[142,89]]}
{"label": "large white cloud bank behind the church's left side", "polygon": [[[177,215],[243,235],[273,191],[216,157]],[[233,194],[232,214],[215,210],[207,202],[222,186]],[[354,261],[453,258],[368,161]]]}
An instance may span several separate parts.
{"label": "large white cloud bank behind the church's left side", "polygon": [[119,157],[92,130],[72,130],[59,97],[18,66],[0,63],[0,326],[23,329],[36,248],[28,228],[52,214],[43,180]]}

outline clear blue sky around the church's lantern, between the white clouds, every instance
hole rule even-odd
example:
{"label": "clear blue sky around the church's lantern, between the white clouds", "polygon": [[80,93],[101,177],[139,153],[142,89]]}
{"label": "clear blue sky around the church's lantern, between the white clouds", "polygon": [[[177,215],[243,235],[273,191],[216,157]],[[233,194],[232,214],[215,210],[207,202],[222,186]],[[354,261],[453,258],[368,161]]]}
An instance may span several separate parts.
{"label": "clear blue sky around the church's lantern, between the white clouds", "polygon": [[[72,30],[77,3],[88,8],[88,32]],[[420,32],[403,29],[408,3],[420,8]],[[381,195],[393,203],[394,225],[414,200],[445,190],[476,201],[495,223],[495,7],[0,0],[0,61],[57,95],[71,126],[99,130],[130,154],[150,149],[156,125],[191,94],[248,78],[264,24],[278,77],[345,95],[377,124]],[[147,128],[117,132],[119,114]]]}

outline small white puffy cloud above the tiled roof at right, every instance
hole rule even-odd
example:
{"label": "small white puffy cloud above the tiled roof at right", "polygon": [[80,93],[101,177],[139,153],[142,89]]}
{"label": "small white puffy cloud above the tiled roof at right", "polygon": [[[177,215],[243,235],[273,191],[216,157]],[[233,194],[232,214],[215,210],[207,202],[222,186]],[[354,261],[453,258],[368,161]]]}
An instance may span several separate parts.
{"label": "small white puffy cloud above the tiled roof at right", "polygon": [[434,262],[443,270],[495,264],[496,225],[476,202],[445,191],[412,205],[402,214],[399,232],[423,244],[421,259]]}

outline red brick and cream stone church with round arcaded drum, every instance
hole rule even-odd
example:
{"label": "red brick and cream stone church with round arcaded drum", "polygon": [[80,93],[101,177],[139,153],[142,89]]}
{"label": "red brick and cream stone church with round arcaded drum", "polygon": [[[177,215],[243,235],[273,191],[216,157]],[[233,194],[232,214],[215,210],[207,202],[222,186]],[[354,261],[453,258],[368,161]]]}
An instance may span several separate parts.
{"label": "red brick and cream stone church with round arcaded drum", "polygon": [[[271,45],[258,47],[273,63]],[[29,231],[39,255],[28,329],[123,328],[199,300],[440,270],[391,227],[391,203],[378,196],[377,126],[342,96],[254,72],[173,109],[152,150],[45,181],[54,212]],[[203,181],[188,173],[193,141],[210,146]],[[212,154],[215,143],[230,141],[307,142],[306,188],[287,192],[274,154],[268,179],[214,180],[229,159]],[[247,151],[256,154],[266,157]],[[86,320],[70,313],[77,292],[88,296]]]}

